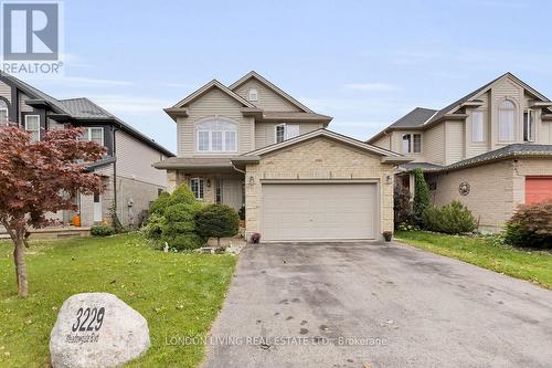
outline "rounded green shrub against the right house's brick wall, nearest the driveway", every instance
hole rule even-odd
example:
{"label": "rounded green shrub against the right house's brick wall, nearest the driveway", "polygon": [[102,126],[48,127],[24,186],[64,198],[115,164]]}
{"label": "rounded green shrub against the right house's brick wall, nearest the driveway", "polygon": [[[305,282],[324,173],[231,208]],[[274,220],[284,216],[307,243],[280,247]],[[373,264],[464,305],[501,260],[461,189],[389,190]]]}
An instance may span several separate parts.
{"label": "rounded green shrub against the right house's brick wall, nearest the driveway", "polygon": [[423,212],[423,219],[427,230],[447,234],[473,232],[478,227],[471,211],[458,201],[452,201],[440,208],[427,207]]}

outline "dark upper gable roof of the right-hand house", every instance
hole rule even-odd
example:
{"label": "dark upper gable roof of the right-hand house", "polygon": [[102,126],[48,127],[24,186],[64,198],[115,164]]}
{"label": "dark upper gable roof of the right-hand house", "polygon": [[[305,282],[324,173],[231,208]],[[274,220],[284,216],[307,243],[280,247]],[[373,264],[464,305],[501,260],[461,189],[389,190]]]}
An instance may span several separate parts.
{"label": "dark upper gable roof of the right-hand house", "polygon": [[[512,73],[507,72],[507,73],[500,75],[499,77],[490,81],[489,83],[482,85],[481,87],[479,87],[479,88],[477,88],[477,90],[468,93],[467,95],[458,98],[454,103],[445,106],[444,108],[442,108],[439,111],[434,111],[434,109],[431,109],[431,108],[416,107],[412,112],[410,112],[408,114],[406,114],[405,116],[401,117],[395,123],[393,123],[390,126],[388,126],[382,132],[378,133],[375,136],[373,136],[372,138],[370,138],[368,141],[369,143],[374,141],[375,139],[380,138],[382,135],[384,135],[390,129],[396,129],[396,128],[401,128],[401,127],[403,127],[403,128],[404,127],[407,127],[407,128],[425,128],[426,126],[429,126],[429,125],[432,125],[434,123],[437,123],[443,117],[445,117],[445,115],[454,113],[459,107],[461,107],[463,104],[465,104],[468,101],[471,101],[474,98],[477,98],[481,94],[486,93],[495,83],[497,83],[497,82],[499,82],[499,81],[501,81],[503,78],[507,78],[507,77],[511,78],[513,82],[520,84],[526,91],[528,91],[529,93],[531,93],[532,95],[534,95],[539,99],[544,101],[544,102],[550,102],[550,99],[546,96],[544,96],[543,94],[541,94],[540,92],[538,92],[537,90],[534,90],[533,87],[531,87],[529,84],[527,84],[522,80],[518,78]],[[434,112],[433,116],[427,117],[427,115],[432,111]]]}

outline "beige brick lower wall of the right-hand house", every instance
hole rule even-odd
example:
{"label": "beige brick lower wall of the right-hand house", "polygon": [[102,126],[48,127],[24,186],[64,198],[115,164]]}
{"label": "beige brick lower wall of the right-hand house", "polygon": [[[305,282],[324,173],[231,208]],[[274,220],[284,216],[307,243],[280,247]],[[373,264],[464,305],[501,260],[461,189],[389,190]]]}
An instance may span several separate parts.
{"label": "beige brick lower wall of the right-hand house", "polygon": [[[500,231],[519,204],[526,201],[526,176],[552,176],[552,160],[543,158],[508,159],[463,170],[429,175],[436,190],[431,192],[434,204],[453,200],[466,204],[479,219],[482,231]],[[458,186],[467,182],[470,191],[460,196]]]}

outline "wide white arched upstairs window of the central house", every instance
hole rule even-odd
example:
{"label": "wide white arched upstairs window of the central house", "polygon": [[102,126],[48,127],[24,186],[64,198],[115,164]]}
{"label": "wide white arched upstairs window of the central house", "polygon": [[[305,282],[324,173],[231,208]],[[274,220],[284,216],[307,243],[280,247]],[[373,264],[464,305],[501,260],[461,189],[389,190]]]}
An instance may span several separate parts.
{"label": "wide white arched upstairs window of the central house", "polygon": [[232,153],[237,147],[237,125],[224,118],[210,118],[197,126],[198,151]]}

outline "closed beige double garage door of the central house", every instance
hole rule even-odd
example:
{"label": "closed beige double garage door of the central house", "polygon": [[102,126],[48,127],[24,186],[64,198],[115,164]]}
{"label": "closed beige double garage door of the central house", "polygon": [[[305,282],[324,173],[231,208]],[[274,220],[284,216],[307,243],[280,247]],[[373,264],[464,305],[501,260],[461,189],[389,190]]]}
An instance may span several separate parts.
{"label": "closed beige double garage door of the central house", "polygon": [[375,183],[263,183],[263,239],[375,239]]}

